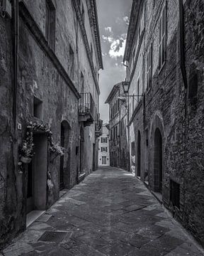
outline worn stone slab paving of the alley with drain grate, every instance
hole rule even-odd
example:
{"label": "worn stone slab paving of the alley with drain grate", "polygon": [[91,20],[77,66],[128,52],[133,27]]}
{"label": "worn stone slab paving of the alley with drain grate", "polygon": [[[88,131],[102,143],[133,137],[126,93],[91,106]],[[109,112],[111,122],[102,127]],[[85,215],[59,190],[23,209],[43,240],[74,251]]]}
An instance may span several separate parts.
{"label": "worn stone slab paving of the alley with drain grate", "polygon": [[0,255],[201,256],[201,250],[142,182],[107,167],[68,191]]}

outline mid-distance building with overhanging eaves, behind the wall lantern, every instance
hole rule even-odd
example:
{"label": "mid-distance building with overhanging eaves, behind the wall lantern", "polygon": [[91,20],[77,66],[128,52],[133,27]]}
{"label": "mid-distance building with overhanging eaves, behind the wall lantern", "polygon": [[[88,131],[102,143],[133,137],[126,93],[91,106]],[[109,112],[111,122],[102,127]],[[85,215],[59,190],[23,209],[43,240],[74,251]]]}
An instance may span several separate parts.
{"label": "mid-distance building with overhanging eaves, behind the wall lantern", "polygon": [[123,82],[118,82],[106,100],[109,105],[110,165],[129,170],[128,107],[123,94]]}

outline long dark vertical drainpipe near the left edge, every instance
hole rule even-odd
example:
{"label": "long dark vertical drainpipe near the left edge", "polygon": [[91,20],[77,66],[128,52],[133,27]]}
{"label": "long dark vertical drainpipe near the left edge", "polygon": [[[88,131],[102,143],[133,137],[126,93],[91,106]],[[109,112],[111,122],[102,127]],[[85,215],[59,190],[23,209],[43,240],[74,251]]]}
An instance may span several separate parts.
{"label": "long dark vertical drainpipe near the left edge", "polygon": [[16,109],[17,109],[17,87],[18,87],[18,0],[13,1],[13,26],[14,26],[14,46],[13,46],[13,125],[16,134]]}

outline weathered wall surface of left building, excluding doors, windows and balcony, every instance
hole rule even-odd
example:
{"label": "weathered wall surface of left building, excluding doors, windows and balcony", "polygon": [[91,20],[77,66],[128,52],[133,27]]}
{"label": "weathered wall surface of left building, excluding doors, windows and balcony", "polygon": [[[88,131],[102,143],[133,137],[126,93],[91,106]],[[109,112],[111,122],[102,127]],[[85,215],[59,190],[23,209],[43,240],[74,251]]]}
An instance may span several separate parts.
{"label": "weathered wall surface of left building, excluding doors, windows and balcony", "polygon": [[[28,166],[18,166],[18,151],[26,138],[26,127],[30,119],[45,124],[51,131],[53,142],[61,141],[61,124],[66,127],[66,151],[64,154],[64,187],[72,188],[79,176],[79,124],[78,106],[81,92],[81,73],[84,75],[84,92],[91,92],[96,112],[98,112],[98,85],[94,81],[91,65],[84,45],[83,35],[72,1],[53,1],[56,8],[55,50],[45,41],[45,1],[20,3],[19,48],[18,48],[18,88],[16,124],[21,129],[13,132],[13,24],[0,16],[0,247],[19,231],[26,228],[26,196]],[[86,2],[85,28],[89,46],[92,43],[93,63],[96,73],[99,60],[96,41],[89,23]],[[23,7],[22,7],[23,6]],[[25,8],[28,11],[25,12]],[[31,16],[30,16],[30,14]],[[28,18],[28,22],[26,20]],[[37,23],[38,26],[35,26]],[[31,24],[31,26],[30,26]],[[44,36],[43,36],[44,35]],[[70,71],[69,45],[74,52],[74,69]],[[96,75],[96,74],[95,74]],[[98,75],[96,75],[98,79]],[[34,96],[42,101],[42,117],[33,117]],[[45,134],[45,132],[43,133]],[[36,135],[36,134],[35,134]],[[45,135],[46,136],[46,135]],[[89,174],[93,165],[95,121],[84,127],[84,171]],[[49,142],[47,142],[49,146]],[[60,192],[60,157],[50,160],[47,155],[46,206],[57,201]],[[77,161],[76,161],[77,159]],[[96,158],[97,159],[97,158]],[[97,166],[97,163],[96,163]],[[45,181],[46,183],[46,181]]]}

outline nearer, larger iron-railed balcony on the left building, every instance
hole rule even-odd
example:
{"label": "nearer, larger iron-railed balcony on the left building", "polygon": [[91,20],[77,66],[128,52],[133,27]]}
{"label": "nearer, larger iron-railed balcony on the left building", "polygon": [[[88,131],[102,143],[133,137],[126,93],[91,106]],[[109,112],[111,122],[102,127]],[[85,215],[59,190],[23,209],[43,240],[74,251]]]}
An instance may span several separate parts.
{"label": "nearer, larger iron-railed balcony on the left building", "polygon": [[84,127],[94,123],[94,100],[90,92],[81,93],[79,99],[79,122],[84,122]]}

